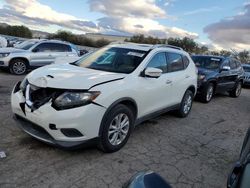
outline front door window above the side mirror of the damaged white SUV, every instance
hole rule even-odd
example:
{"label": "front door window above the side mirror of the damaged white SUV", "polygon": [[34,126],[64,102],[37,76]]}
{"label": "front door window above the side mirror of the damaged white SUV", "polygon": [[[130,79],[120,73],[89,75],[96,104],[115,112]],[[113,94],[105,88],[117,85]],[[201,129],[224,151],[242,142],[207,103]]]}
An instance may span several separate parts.
{"label": "front door window above the side mirror of the damaged white SUV", "polygon": [[147,67],[161,69],[163,73],[166,73],[167,70],[167,59],[164,52],[156,54],[148,63]]}

